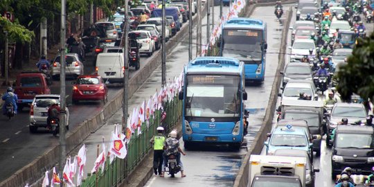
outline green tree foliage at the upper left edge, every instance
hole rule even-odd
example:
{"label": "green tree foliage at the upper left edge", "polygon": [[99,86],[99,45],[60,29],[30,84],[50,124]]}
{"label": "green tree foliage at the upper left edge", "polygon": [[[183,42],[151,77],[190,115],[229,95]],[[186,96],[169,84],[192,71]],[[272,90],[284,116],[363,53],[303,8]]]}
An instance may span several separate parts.
{"label": "green tree foliage at the upper left edge", "polygon": [[[0,17],[0,28],[2,28],[2,31],[8,32],[8,38],[11,42],[30,43],[35,37],[33,31],[28,30],[17,22],[12,23],[5,17]],[[1,32],[1,37],[5,37],[3,32]]]}

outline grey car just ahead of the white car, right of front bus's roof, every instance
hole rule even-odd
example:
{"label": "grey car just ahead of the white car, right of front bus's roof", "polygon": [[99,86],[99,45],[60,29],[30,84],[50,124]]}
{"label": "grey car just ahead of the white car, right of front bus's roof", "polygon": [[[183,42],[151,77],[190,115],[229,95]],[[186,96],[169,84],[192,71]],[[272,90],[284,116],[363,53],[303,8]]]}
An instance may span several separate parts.
{"label": "grey car just ahead of the white car, right of front bus's roof", "polygon": [[283,87],[289,80],[312,80],[312,70],[305,62],[290,62],[285,66],[285,71],[280,73],[283,75]]}

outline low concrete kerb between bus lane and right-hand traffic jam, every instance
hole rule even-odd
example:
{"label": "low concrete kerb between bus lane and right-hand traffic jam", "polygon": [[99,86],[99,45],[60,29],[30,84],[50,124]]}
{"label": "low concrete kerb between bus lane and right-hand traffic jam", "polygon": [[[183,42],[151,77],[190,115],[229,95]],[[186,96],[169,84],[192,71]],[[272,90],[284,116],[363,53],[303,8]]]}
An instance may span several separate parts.
{"label": "low concrete kerb between bus lane and right-hand traffic jam", "polygon": [[[296,2],[296,1],[294,1]],[[287,1],[283,3],[294,3],[292,1]],[[285,51],[287,46],[287,34],[288,34],[288,28],[290,27],[290,21],[292,19],[292,7],[288,11],[288,17],[285,20],[285,23],[283,23],[283,32],[282,32],[282,41],[281,41],[281,49],[279,51],[279,62],[278,67],[276,69],[276,75],[274,78],[273,85],[271,87],[270,92],[270,98],[269,103],[266,108],[265,112],[265,118],[262,121],[262,125],[260,127],[260,130],[257,132],[255,139],[253,140],[251,149],[248,150],[247,154],[244,156],[244,159],[242,161],[242,166],[240,166],[240,170],[238,172],[238,175],[236,176],[234,185],[235,187],[247,187],[249,185],[249,157],[251,157],[251,154],[260,154],[262,151],[262,148],[264,147],[264,141],[267,139],[267,133],[271,132],[271,125],[273,121],[274,112],[276,109],[276,102],[278,100],[278,91],[279,87],[281,85],[281,76],[278,72],[282,71],[285,66]]]}

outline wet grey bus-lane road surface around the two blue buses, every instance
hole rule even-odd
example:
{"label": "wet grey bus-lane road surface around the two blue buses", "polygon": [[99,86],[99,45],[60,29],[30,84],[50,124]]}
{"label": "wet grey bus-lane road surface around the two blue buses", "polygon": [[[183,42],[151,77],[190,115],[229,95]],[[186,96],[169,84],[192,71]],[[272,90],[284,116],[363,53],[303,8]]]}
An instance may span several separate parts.
{"label": "wet grey bus-lane road surface around the two blue buses", "polygon": [[[215,11],[219,11],[219,7],[215,7]],[[285,6],[283,10],[288,10]],[[287,12],[283,15],[281,21],[287,17]],[[204,147],[198,150],[185,150],[186,156],[181,157],[184,163],[184,169],[187,177],[181,178],[177,175],[176,178],[169,177],[161,178],[152,176],[146,186],[233,186],[235,177],[240,168],[242,159],[247,153],[253,143],[253,138],[260,129],[262,120],[265,116],[265,107],[269,101],[271,86],[276,75],[276,68],[278,66],[278,52],[281,48],[281,35],[283,26],[279,24],[274,16],[274,6],[258,7],[256,8],[251,18],[262,19],[267,22],[267,64],[265,73],[265,82],[254,85],[248,84],[246,91],[248,93],[248,100],[245,102],[246,108],[251,111],[249,114],[249,133],[244,138],[244,144],[238,152],[232,152],[226,148],[212,148]],[[206,18],[204,18],[206,20]],[[203,21],[206,23],[206,21]],[[202,30],[205,27],[203,26]],[[203,31],[203,34],[206,32]],[[204,35],[204,37],[206,37]],[[188,41],[188,40],[186,40]],[[203,40],[204,41],[204,40]],[[178,51],[187,51],[177,48]],[[181,52],[176,57],[179,62],[188,62],[188,53]],[[175,69],[180,72],[181,69]],[[183,141],[180,140],[181,148],[183,148]]]}

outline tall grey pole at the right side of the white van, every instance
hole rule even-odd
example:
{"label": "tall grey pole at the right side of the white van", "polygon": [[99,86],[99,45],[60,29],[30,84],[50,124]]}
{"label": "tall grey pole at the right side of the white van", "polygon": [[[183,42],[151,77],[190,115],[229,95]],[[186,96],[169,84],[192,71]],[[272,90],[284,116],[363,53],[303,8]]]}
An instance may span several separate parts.
{"label": "tall grey pole at the right side of the white van", "polygon": [[129,113],[129,17],[128,17],[128,0],[125,0],[125,24],[123,25],[122,44],[123,44],[123,64],[125,70],[123,72],[123,100],[122,100],[122,132],[126,129],[127,117]]}

